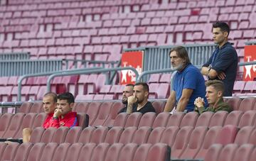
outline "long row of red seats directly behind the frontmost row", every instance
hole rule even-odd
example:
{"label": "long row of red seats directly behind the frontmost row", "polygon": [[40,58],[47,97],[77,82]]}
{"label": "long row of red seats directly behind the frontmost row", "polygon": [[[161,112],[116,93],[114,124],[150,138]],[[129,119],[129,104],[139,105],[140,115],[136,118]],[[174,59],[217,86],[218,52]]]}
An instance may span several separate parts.
{"label": "long row of red seats directly behind the frontmost row", "polygon": [[87,127],[85,129],[61,127],[58,129],[34,129],[31,143],[166,143],[171,147],[171,158],[203,159],[210,145],[234,143],[255,145],[256,130],[253,126],[237,128],[236,126],[178,126],[150,128],[148,126],[122,128]]}

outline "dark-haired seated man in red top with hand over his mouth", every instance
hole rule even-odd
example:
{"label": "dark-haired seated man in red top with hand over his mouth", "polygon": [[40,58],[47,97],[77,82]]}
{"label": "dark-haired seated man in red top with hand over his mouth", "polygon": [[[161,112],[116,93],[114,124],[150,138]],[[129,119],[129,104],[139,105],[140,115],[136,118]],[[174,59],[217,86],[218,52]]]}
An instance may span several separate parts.
{"label": "dark-haired seated man in red top with hand over his mouth", "polygon": [[72,109],[75,105],[75,98],[70,92],[65,92],[58,95],[57,109],[53,114],[52,121],[50,121],[50,127],[58,128],[60,126],[78,126],[77,113]]}

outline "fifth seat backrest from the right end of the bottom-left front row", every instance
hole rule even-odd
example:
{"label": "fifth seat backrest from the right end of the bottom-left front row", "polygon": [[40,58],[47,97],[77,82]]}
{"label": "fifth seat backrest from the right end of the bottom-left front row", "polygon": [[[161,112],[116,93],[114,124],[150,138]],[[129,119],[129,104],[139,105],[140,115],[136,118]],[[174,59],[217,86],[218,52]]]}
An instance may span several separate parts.
{"label": "fifth seat backrest from the right end of the bottom-left front row", "polygon": [[107,150],[108,148],[110,148],[110,144],[109,143],[100,143],[98,144],[93,152],[92,152],[92,157],[91,157],[91,161],[98,161],[98,160],[104,160],[105,156],[107,154]]}

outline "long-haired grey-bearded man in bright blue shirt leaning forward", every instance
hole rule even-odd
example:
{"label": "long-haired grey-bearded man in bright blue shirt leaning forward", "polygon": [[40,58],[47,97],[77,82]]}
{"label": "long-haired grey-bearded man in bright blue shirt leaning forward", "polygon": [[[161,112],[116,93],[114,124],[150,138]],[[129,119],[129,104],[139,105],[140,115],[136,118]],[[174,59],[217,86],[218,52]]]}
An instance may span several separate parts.
{"label": "long-haired grey-bearded man in bright blue shirt leaning forward", "polygon": [[[194,109],[194,101],[198,97],[205,98],[205,80],[200,70],[191,65],[186,48],[178,46],[170,51],[171,66],[177,70],[171,95],[166,101],[165,112],[190,112]],[[206,99],[205,99],[206,100]]]}

